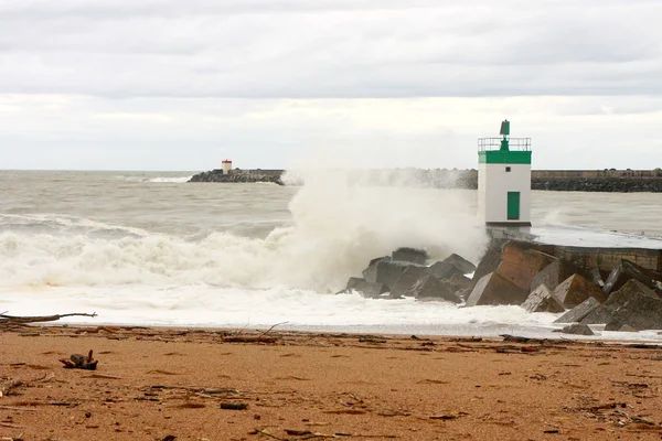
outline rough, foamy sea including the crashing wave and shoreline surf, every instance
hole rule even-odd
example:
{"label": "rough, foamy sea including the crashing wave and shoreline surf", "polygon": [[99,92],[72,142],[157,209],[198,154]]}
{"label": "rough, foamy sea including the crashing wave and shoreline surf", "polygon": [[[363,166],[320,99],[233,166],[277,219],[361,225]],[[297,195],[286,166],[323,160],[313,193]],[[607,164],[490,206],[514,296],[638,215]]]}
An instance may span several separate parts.
{"label": "rough, foamy sea including the crashing wave and shoreline surf", "polygon": [[[554,336],[558,314],[338,293],[403,246],[478,262],[477,194],[403,172],[288,185],[188,183],[193,172],[0,171],[0,312],[57,323],[382,334]],[[301,184],[305,182],[305,184]],[[533,192],[534,225],[662,236],[662,195]],[[662,340],[596,329],[599,338]]]}

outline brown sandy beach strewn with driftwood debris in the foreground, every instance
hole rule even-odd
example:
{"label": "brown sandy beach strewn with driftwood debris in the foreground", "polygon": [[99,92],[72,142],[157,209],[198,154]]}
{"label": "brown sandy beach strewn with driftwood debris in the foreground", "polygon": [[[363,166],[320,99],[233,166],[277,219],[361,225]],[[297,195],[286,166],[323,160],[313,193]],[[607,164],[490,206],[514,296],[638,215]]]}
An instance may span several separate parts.
{"label": "brown sandy beach strewn with driftwood debris in the foreground", "polygon": [[0,331],[2,440],[659,440],[661,385],[640,344]]}

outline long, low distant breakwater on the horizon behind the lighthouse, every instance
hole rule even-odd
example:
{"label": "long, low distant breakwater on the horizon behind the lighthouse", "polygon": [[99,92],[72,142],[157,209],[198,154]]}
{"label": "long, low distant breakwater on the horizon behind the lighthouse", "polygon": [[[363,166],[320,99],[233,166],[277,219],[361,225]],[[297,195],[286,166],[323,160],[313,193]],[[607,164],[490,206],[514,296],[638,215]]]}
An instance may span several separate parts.
{"label": "long, low distant breakwater on the horizon behind the lighthouse", "polygon": [[[250,183],[271,182],[284,185],[301,185],[303,180],[295,173],[288,173],[284,182],[285,170],[211,170],[191,178],[189,182]],[[351,183],[372,185],[412,185],[435,189],[478,189],[476,169],[371,169],[339,172],[339,179]],[[662,170],[533,170],[531,187],[548,191],[579,192],[662,192]]]}

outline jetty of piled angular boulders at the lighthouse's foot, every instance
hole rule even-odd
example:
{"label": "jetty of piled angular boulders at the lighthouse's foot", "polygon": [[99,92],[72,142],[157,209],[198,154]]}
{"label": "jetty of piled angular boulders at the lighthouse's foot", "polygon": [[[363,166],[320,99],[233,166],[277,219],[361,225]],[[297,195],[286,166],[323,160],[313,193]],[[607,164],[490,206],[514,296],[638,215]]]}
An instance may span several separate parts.
{"label": "jetty of piled angular boulders at the lighthouse's foot", "polygon": [[613,262],[597,261],[594,251],[587,248],[584,256],[565,247],[492,239],[474,266],[458,255],[431,262],[425,250],[401,248],[370,261],[340,293],[465,308],[520,305],[531,313],[563,313],[555,322],[568,324],[563,332],[583,335],[596,324],[606,331],[662,330],[662,250],[629,251],[647,266],[622,255]]}

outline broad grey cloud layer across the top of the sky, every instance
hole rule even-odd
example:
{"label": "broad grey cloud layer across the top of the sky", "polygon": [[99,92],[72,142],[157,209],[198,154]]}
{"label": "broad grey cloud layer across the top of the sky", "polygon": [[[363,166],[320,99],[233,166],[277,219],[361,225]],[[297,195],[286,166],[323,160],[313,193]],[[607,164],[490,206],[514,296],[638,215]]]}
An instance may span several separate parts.
{"label": "broad grey cloud layer across the top of the sky", "polygon": [[0,93],[337,98],[659,95],[636,1],[6,1]]}

